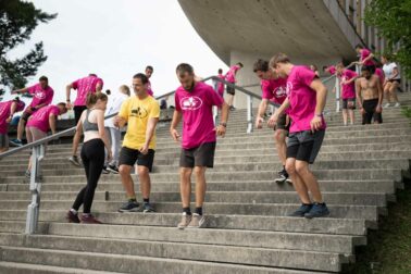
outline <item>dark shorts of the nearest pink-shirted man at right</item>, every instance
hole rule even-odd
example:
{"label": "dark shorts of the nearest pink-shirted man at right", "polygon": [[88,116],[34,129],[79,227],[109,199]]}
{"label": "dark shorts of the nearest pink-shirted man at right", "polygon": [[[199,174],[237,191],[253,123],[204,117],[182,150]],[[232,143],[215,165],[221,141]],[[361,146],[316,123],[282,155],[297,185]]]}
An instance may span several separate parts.
{"label": "dark shorts of the nearest pink-shirted man at right", "polygon": [[324,140],[325,130],[304,130],[288,136],[287,159],[295,158],[310,164],[314,163]]}

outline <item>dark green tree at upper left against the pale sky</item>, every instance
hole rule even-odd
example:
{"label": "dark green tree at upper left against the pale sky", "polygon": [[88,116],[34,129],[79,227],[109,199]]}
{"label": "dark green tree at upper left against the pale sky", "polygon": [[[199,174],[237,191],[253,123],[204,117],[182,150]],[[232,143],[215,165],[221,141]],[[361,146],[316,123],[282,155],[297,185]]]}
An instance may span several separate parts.
{"label": "dark green tree at upper left against the pale sky", "polygon": [[42,12],[30,2],[0,0],[0,96],[7,89],[24,87],[27,77],[36,75],[47,60],[41,41],[22,58],[10,60],[7,53],[28,40],[39,23],[55,17],[57,14]]}

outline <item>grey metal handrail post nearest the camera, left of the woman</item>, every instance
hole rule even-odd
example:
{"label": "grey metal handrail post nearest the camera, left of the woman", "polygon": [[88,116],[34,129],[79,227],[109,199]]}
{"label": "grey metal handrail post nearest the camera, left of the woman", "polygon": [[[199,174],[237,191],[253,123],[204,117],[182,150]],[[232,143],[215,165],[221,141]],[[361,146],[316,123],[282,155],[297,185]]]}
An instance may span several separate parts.
{"label": "grey metal handrail post nearest the camera, left of the woman", "polygon": [[45,145],[39,145],[33,148],[32,154],[32,171],[29,190],[32,194],[32,202],[27,207],[26,219],[26,234],[34,234],[37,229],[39,208],[40,208],[40,192],[41,192],[41,169],[40,161],[45,155]]}

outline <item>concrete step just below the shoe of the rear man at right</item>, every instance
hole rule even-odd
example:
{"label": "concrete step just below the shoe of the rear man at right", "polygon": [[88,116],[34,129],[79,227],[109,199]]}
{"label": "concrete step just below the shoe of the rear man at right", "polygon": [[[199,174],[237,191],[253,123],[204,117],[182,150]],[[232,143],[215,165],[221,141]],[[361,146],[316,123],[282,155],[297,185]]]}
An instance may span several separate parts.
{"label": "concrete step just below the shoe of the rear man at right", "polygon": [[[138,178],[136,178],[136,182]],[[395,194],[396,188],[402,187],[401,184],[396,185],[393,180],[321,180],[321,189],[325,192],[371,192],[371,194]],[[192,182],[192,185],[195,182]],[[41,184],[41,192],[59,192],[59,191],[78,191],[85,183],[43,183]],[[28,191],[26,184],[0,184],[2,191]],[[139,184],[135,183],[135,189],[140,189]],[[214,182],[207,183],[208,191],[295,191],[290,184],[278,184],[273,180],[261,182]],[[109,183],[99,183],[97,191],[123,191],[123,186],[119,180]],[[152,191],[179,191],[179,184],[170,182],[155,182],[151,186]],[[1,191],[1,190],[0,190]]]}

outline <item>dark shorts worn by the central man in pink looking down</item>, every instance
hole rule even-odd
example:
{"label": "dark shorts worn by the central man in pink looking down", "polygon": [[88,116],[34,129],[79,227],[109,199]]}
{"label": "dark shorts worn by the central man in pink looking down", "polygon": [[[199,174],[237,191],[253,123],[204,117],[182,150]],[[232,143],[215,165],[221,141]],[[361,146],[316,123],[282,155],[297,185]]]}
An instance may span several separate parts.
{"label": "dark shorts worn by the central man in pink looking down", "polygon": [[215,142],[205,142],[196,148],[182,149],[180,167],[214,166]]}

